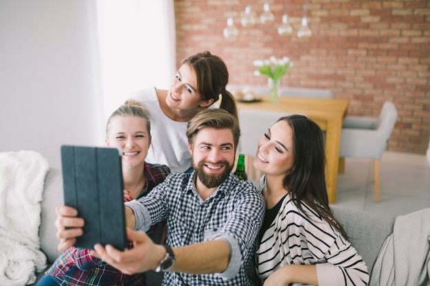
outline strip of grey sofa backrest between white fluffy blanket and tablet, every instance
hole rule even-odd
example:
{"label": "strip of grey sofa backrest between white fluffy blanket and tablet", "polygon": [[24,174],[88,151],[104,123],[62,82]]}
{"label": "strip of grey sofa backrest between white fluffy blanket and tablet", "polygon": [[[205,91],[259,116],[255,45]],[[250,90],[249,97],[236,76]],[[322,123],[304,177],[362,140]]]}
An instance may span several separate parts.
{"label": "strip of grey sofa backrest between white fluffy blanket and tablet", "polygon": [[[50,263],[60,255],[57,250],[59,240],[56,236],[56,213],[55,208],[64,204],[63,200],[63,176],[59,169],[49,169],[45,177],[45,186],[43,188],[41,226],[39,228],[39,239],[41,250],[46,254]],[[49,263],[48,263],[49,264]]]}

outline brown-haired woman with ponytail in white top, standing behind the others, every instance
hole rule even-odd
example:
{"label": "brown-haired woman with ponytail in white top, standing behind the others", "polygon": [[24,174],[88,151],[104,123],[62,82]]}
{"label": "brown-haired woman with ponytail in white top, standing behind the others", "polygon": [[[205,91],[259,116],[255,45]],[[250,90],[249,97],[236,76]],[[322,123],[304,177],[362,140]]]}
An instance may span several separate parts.
{"label": "brown-haired woman with ponytail in white top, standing behind the others", "polygon": [[181,62],[168,90],[151,87],[132,95],[146,106],[152,122],[148,163],[168,165],[172,172],[192,170],[188,121],[203,109],[218,107],[238,117],[235,99],[225,89],[228,80],[224,61],[204,51]]}

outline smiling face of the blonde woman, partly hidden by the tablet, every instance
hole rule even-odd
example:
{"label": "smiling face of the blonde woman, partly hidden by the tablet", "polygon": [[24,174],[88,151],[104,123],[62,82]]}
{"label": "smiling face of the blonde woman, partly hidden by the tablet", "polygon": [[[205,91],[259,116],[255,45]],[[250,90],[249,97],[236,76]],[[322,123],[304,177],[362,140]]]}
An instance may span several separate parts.
{"label": "smiling face of the blonde woman, partly hidden by the tablet", "polygon": [[122,148],[123,168],[142,165],[150,146],[146,120],[138,116],[112,117],[107,132],[106,145]]}

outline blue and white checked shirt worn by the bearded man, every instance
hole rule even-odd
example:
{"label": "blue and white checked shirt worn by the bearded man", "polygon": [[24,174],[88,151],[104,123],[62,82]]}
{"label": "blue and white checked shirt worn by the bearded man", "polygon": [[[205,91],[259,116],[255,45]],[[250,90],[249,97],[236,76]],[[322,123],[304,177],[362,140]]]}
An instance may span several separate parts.
{"label": "blue and white checked shirt worn by the bearded man", "polygon": [[[247,274],[264,216],[264,199],[252,182],[230,174],[203,200],[192,174],[171,174],[140,200],[127,202],[136,215],[136,229],[167,219],[167,243],[187,246],[221,239],[229,243],[227,269],[216,274],[166,272],[163,285],[252,285]],[[204,255],[204,254],[201,254]]]}

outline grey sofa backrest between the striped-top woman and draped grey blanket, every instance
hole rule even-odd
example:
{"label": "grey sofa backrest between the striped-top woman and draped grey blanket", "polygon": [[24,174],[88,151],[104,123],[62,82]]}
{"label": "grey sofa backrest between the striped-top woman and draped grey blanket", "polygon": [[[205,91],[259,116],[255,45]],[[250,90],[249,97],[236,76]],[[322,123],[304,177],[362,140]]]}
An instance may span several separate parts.
{"label": "grey sofa backrest between the striped-top woman and draped grey blanket", "polygon": [[393,232],[396,218],[339,206],[330,208],[345,229],[352,246],[363,257],[370,274],[385,239]]}

